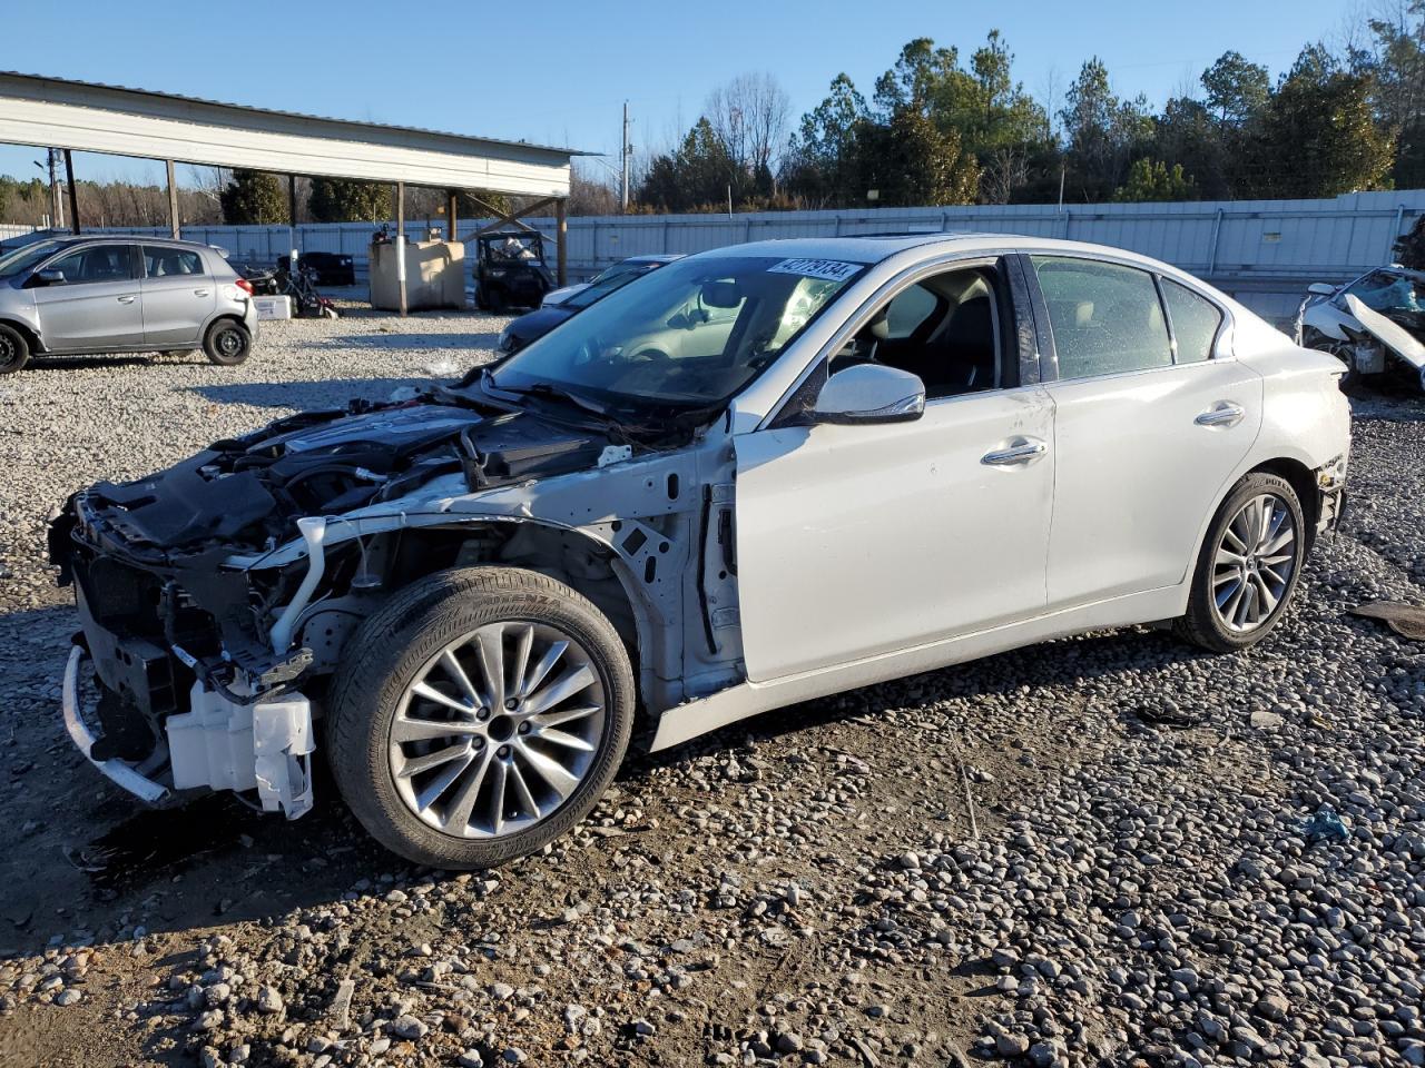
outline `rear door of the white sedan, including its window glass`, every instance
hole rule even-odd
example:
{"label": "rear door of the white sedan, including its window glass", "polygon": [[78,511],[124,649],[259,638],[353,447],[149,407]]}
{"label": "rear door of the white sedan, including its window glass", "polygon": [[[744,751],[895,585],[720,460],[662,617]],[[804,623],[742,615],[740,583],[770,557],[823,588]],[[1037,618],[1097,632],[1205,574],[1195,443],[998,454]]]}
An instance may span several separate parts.
{"label": "rear door of the white sedan, including its window glass", "polygon": [[1053,335],[1049,608],[1181,582],[1261,426],[1213,300],[1137,266],[1029,256]]}

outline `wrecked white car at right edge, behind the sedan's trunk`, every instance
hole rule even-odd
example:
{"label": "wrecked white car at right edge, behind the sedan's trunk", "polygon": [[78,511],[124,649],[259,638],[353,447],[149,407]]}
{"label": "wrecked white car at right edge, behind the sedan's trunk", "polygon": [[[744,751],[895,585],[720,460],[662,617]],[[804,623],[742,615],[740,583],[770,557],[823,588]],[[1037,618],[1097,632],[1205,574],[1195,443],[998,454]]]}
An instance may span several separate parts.
{"label": "wrecked white car at right edge, behind the sedan's trunk", "polygon": [[1314,282],[1297,308],[1297,343],[1347,366],[1342,389],[1365,376],[1408,376],[1425,393],[1425,272],[1367,271],[1344,286]]}

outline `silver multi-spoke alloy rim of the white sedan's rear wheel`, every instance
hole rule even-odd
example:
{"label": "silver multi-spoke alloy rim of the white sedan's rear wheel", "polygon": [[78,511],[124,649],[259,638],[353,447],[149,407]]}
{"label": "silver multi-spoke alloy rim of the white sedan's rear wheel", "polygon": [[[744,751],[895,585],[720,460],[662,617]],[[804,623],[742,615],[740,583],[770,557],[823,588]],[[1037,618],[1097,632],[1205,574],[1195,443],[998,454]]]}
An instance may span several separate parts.
{"label": "silver multi-spoke alloy rim of the white sedan's rear wheel", "polygon": [[1213,558],[1213,605],[1235,634],[1255,631],[1277,611],[1297,565],[1297,524],[1280,497],[1247,501],[1223,530]]}

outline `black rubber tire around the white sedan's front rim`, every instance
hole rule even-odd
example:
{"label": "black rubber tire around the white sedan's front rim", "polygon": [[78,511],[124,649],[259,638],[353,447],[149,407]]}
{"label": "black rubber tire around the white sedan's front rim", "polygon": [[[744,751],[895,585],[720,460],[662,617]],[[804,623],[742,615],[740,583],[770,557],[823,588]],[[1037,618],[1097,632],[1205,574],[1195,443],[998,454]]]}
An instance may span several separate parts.
{"label": "black rubber tire around the white sedan's front rim", "polygon": [[[390,611],[382,609],[366,619],[339,668],[328,738],[338,790],[373,837],[418,863],[483,869],[539,850],[593,809],[627,750],[634,688],[617,632],[567,587],[563,588],[567,598],[563,598],[543,590],[510,590],[482,581],[502,577],[509,581],[507,577],[522,574],[533,575],[512,568],[466,568],[422,580],[405,595],[398,595],[388,605]],[[551,580],[543,584],[557,585]],[[406,807],[389,765],[390,725],[405,688],[440,649],[499,621],[557,627],[589,652],[604,692],[604,729],[589,772],[551,816],[506,837],[463,839],[429,826]]]}

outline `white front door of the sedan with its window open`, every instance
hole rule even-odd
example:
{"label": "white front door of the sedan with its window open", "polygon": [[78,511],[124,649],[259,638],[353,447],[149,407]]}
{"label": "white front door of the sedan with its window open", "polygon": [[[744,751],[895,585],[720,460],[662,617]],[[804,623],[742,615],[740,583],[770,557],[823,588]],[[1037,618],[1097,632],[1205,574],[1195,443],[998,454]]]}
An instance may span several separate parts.
{"label": "white front door of the sedan with its window open", "polygon": [[[1003,278],[1002,266],[992,271]],[[866,309],[862,320],[895,325],[908,305],[912,318],[935,305],[916,285],[892,296],[889,316]],[[1002,281],[993,300],[992,337],[983,325],[979,335],[973,323],[956,330],[955,308],[942,306],[943,325],[915,323],[906,335],[923,337],[923,349],[899,350],[925,379],[938,362],[962,367],[970,347],[989,343],[993,382],[931,389],[913,422],[772,426],[735,439],[737,574],[754,682],[1043,612],[1053,404],[1037,383],[1017,383],[1019,332]]]}

